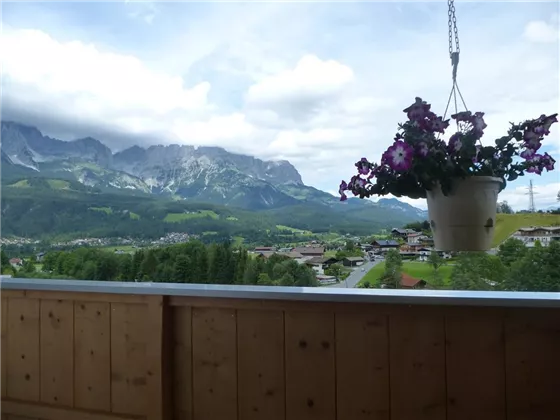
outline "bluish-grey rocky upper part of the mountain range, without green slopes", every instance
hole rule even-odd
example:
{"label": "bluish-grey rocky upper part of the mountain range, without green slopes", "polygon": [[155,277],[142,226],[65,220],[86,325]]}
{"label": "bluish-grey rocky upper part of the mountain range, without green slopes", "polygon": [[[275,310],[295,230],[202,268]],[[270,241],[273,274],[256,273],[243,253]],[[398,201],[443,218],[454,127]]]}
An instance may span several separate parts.
{"label": "bluish-grey rocky upper part of the mountain range, without green slopes", "polygon": [[397,199],[340,202],[332,194],[304,185],[288,161],[264,161],[219,147],[132,146],[113,153],[92,137],[62,141],[43,135],[36,127],[0,121],[0,164],[2,182],[8,185],[42,177],[77,181],[113,193],[137,192],[248,210],[316,204],[403,222],[426,218],[424,210]]}

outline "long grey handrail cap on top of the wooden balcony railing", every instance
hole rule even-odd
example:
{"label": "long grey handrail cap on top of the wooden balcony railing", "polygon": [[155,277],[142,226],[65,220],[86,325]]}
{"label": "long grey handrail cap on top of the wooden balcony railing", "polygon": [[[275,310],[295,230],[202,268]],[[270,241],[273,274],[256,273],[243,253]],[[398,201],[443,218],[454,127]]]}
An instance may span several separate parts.
{"label": "long grey handrail cap on top of the wooden balcony railing", "polygon": [[560,307],[560,293],[458,290],[345,289],[91,280],[0,279],[2,290],[293,300],[332,303],[387,303],[495,307]]}

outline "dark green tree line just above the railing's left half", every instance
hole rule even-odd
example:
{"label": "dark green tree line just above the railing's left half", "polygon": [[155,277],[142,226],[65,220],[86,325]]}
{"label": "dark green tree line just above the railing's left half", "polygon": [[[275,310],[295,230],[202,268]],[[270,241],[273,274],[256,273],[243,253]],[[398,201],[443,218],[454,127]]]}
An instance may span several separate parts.
{"label": "dark green tree line just above the railing's left half", "polygon": [[317,286],[314,271],[282,255],[252,257],[229,242],[199,241],[117,254],[95,248],[45,254],[42,272],[25,263],[19,277],[101,281]]}

